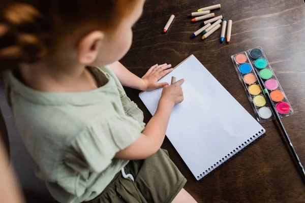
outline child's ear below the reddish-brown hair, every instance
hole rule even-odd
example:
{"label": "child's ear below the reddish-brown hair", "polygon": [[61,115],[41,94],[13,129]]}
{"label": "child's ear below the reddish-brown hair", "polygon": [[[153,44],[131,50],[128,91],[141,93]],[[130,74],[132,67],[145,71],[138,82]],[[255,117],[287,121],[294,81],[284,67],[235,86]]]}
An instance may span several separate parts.
{"label": "child's ear below the reddish-brown hair", "polygon": [[84,65],[93,63],[101,48],[104,33],[102,31],[92,31],[84,36],[77,47],[78,61]]}

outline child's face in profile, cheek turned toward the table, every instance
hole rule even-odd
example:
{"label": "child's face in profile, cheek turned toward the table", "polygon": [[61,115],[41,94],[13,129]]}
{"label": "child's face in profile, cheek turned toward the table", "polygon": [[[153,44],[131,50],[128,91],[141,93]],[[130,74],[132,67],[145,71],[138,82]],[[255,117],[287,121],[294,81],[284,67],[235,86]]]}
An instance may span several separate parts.
{"label": "child's face in profile, cheek turned toward the table", "polygon": [[138,0],[134,11],[124,17],[113,31],[105,32],[95,65],[111,64],[125,56],[132,44],[132,26],[140,18],[144,0]]}

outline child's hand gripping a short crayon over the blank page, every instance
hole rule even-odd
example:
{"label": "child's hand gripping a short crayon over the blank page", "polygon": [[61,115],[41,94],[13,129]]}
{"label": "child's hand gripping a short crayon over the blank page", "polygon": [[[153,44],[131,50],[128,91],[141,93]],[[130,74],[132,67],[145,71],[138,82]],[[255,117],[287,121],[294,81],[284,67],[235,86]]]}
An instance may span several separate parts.
{"label": "child's hand gripping a short crayon over the blank page", "polygon": [[184,96],[180,85],[184,83],[184,81],[184,79],[181,79],[174,84],[164,86],[160,100],[173,106],[181,103],[184,100]]}

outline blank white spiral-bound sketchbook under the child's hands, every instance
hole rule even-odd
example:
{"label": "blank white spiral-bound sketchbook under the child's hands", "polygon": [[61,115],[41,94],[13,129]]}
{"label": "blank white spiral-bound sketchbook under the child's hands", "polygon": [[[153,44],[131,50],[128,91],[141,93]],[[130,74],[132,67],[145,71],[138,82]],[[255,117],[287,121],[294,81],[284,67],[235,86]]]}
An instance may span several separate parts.
{"label": "blank white spiral-bound sketchbook under the child's hands", "polygon": [[[200,180],[265,133],[265,129],[205,69],[194,55],[159,82],[184,78],[184,101],[174,107],[166,136]],[[140,98],[156,113],[162,89]]]}

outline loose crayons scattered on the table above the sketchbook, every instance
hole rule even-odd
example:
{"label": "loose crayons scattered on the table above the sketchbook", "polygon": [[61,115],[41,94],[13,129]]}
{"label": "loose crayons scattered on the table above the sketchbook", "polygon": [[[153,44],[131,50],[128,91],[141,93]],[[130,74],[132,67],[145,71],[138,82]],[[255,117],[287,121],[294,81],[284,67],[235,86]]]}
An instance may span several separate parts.
{"label": "loose crayons scattered on the table above the sketchbook", "polygon": [[[223,15],[215,17],[215,13],[211,13],[211,10],[220,9],[220,8],[221,8],[221,5],[217,4],[217,5],[213,5],[213,6],[198,9],[197,12],[193,12],[193,13],[188,15],[189,17],[194,17],[192,19],[192,22],[197,22],[197,21],[200,21],[200,20],[205,20],[205,19],[211,18],[209,20],[203,21],[200,24],[201,28],[198,29],[197,31],[195,31],[192,34],[191,38],[195,38],[196,36],[200,35],[200,33],[202,33],[202,35],[203,35],[202,40],[204,40],[207,37],[209,37],[210,35],[212,35],[212,33],[216,32],[222,26],[221,35],[220,35],[220,42],[224,42],[226,27],[227,27],[227,24],[228,24],[227,42],[230,42],[231,30],[232,30],[232,20],[228,20],[228,22],[226,20],[222,21],[224,19]],[[168,30],[168,28],[169,28],[170,24],[173,22],[174,18],[175,18],[175,16],[172,14],[171,17],[169,18],[168,22],[166,23],[166,25],[163,29],[163,32],[166,32]]]}

